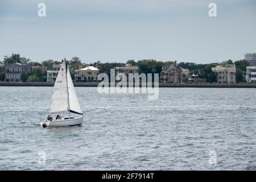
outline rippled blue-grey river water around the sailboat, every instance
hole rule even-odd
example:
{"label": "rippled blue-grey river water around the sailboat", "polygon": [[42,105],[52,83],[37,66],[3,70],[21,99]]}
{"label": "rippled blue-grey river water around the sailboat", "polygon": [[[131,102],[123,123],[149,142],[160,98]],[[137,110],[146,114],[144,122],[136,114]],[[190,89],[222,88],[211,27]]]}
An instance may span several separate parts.
{"label": "rippled blue-grey river water around the sailboat", "polygon": [[255,91],[76,88],[83,126],[43,129],[52,88],[0,86],[0,169],[256,170]]}

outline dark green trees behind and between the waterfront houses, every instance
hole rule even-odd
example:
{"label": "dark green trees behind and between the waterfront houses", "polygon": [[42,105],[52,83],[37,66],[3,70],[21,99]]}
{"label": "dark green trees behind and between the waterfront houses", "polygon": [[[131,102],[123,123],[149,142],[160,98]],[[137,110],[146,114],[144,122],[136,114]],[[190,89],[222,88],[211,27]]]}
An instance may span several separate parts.
{"label": "dark green trees behind and between the waterfront houses", "polygon": [[[11,64],[11,63],[22,63],[28,64],[31,66],[45,66],[47,70],[52,70],[53,64],[61,64],[60,61],[54,60],[45,60],[42,63],[37,61],[31,61],[26,57],[21,57],[19,54],[12,54],[11,56],[5,56],[3,61],[0,61],[0,64]],[[143,59],[143,60],[127,60],[126,64],[137,65],[139,73],[160,73],[162,68],[166,65],[172,64],[174,61],[157,61],[154,59]],[[227,60],[222,61],[221,63],[207,63],[207,64],[196,64],[189,62],[180,62],[177,64],[178,67],[189,69],[189,75],[195,74],[198,75],[199,78],[203,78],[206,82],[216,82],[217,75],[215,72],[212,72],[212,68],[217,65],[226,65],[226,64],[235,64],[236,65],[236,80],[237,82],[245,82],[246,75],[246,67],[249,66],[248,61],[246,60]],[[96,61],[91,64],[82,64],[82,68],[87,65],[97,67],[100,69],[100,73],[106,73],[110,76],[110,69],[114,67],[124,67],[125,63],[102,63],[101,61]],[[75,70],[79,69],[79,64],[72,64],[71,76],[74,78]],[[0,74],[0,80],[4,80],[4,73]],[[184,77],[184,75],[182,76]],[[184,77],[185,78],[185,77]],[[32,68],[31,75],[22,75],[22,80],[27,81],[47,81],[47,71],[42,71],[41,69]]]}

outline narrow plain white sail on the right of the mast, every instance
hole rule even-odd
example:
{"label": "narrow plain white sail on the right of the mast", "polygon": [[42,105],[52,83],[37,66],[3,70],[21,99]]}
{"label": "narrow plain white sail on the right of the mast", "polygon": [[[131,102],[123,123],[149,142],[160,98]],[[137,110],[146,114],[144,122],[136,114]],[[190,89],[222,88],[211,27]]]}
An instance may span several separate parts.
{"label": "narrow plain white sail on the right of the mast", "polygon": [[76,96],[75,88],[74,88],[69,70],[67,75],[68,75],[69,110],[72,113],[82,114],[82,110],[80,108],[79,101]]}

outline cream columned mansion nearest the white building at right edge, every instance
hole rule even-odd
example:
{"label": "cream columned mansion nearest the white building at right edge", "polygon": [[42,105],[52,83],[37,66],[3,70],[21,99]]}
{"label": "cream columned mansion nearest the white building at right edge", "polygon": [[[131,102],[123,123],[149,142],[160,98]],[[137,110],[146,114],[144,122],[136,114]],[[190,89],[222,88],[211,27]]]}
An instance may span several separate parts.
{"label": "cream columned mansion nearest the white building at right edge", "polygon": [[217,82],[219,84],[228,84],[236,82],[236,65],[227,64],[225,67],[217,65],[212,68],[213,72],[217,73]]}

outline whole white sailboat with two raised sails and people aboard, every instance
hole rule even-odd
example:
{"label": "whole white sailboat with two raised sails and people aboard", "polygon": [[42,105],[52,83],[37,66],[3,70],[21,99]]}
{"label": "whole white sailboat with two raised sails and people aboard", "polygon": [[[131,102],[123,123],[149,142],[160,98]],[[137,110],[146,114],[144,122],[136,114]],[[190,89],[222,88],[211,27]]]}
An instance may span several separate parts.
{"label": "whole white sailboat with two raised sails and people aboard", "polygon": [[[67,114],[60,115],[59,113],[61,111]],[[56,77],[49,113],[58,114],[56,118],[52,115],[48,115],[47,119],[43,119],[40,123],[42,127],[82,125],[84,119],[65,60],[63,60],[60,71]]]}

